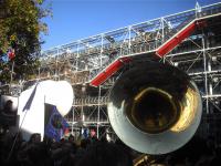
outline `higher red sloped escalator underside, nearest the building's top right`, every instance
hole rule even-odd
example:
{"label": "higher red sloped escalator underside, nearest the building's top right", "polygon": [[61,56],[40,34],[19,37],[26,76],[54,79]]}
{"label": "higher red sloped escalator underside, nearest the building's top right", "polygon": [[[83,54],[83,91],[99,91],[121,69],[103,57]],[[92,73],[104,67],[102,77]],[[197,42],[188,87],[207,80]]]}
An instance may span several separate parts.
{"label": "higher red sloped escalator underside, nearest the building's top right", "polygon": [[192,21],[185,29],[179,31],[176,35],[165,42],[161,46],[158,48],[156,54],[160,58],[166,55],[172,49],[175,49],[178,44],[180,44],[186,38],[188,38],[197,28],[204,27],[204,21]]}

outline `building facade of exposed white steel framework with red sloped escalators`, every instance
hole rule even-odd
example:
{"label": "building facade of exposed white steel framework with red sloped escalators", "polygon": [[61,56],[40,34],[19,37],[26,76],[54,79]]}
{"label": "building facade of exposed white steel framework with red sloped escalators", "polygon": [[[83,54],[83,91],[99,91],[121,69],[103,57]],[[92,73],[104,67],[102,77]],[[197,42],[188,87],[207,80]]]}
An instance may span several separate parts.
{"label": "building facade of exposed white steel framework with red sloped escalators", "polygon": [[95,127],[101,137],[99,128],[110,127],[108,92],[125,63],[167,61],[186,71],[200,89],[206,125],[200,132],[204,134],[214,126],[208,120],[221,117],[220,25],[219,2],[59,45],[41,53],[36,74],[23,85],[49,79],[69,81],[75,92],[73,110],[66,115],[72,132]]}

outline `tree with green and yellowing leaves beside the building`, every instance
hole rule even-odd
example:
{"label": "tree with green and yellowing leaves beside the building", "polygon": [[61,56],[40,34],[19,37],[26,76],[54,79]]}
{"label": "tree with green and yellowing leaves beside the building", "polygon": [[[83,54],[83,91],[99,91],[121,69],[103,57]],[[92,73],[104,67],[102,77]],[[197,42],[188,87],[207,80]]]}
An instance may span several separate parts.
{"label": "tree with green and yellowing leaves beside the building", "polygon": [[42,7],[44,0],[0,1],[0,82],[10,81],[12,62],[6,61],[9,48],[15,52],[13,80],[25,80],[38,69],[40,33],[48,31],[41,19],[51,12]]}

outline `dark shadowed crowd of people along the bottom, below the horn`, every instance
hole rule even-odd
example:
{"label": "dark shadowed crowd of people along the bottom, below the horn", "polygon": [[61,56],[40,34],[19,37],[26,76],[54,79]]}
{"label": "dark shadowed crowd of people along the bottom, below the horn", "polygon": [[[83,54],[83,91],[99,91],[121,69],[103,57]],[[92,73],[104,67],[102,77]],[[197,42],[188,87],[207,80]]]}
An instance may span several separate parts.
{"label": "dark shadowed crowd of people along the bottom, below the horn", "polygon": [[70,135],[55,142],[46,137],[41,141],[40,134],[32,134],[25,142],[21,133],[0,135],[1,166],[218,166],[221,163],[221,147],[213,137],[203,141],[196,136],[173,153],[133,163],[139,155],[120,141],[109,143],[104,137],[76,141]]}

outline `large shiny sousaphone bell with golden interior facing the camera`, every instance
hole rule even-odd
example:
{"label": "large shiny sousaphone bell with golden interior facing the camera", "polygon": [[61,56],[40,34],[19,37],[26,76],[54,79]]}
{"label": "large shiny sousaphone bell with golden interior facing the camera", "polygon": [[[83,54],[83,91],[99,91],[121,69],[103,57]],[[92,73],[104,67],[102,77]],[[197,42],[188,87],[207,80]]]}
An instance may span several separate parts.
{"label": "large shiny sousaphone bell with golden interior facing the camera", "polygon": [[107,105],[117,136],[146,154],[170,153],[196,133],[201,96],[183,71],[169,64],[135,64],[114,84]]}

